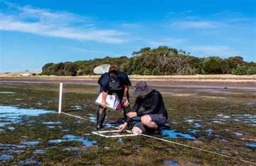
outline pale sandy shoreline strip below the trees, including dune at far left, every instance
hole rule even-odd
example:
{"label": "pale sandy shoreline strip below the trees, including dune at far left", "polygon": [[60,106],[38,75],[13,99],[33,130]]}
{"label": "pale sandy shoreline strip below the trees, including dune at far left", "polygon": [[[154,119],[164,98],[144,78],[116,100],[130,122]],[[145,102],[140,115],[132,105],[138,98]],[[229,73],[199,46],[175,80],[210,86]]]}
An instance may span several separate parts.
{"label": "pale sandy shoreline strip below the trees, including dune at far left", "polygon": [[[100,75],[86,76],[30,76],[22,77],[24,73],[36,73],[41,71],[22,71],[0,73],[0,82],[3,83],[66,83],[66,84],[87,84],[98,85],[97,80]],[[220,88],[235,86],[235,87],[256,87],[256,75],[171,75],[171,76],[141,76],[130,75],[130,80],[134,85],[138,81],[146,81],[153,86],[216,86]]]}

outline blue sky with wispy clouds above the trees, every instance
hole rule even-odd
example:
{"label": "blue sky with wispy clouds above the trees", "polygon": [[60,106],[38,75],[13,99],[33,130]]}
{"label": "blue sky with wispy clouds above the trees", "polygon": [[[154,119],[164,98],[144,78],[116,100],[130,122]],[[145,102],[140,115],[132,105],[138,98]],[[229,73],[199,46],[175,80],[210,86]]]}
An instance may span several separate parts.
{"label": "blue sky with wispy clouds above the trees", "polygon": [[0,72],[169,46],[256,61],[255,1],[2,1]]}

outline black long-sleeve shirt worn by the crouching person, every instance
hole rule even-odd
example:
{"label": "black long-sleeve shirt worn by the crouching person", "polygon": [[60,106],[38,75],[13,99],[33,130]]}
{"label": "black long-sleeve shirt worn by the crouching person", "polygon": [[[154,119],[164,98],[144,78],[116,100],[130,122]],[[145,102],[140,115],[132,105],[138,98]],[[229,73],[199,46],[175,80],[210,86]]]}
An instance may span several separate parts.
{"label": "black long-sleeve shirt worn by the crouching person", "polygon": [[[138,112],[140,107],[143,107],[145,111]],[[163,114],[167,119],[168,114],[164,106],[164,100],[159,91],[153,90],[146,96],[145,99],[137,97],[132,112],[137,112],[137,116],[141,117],[146,114]]]}

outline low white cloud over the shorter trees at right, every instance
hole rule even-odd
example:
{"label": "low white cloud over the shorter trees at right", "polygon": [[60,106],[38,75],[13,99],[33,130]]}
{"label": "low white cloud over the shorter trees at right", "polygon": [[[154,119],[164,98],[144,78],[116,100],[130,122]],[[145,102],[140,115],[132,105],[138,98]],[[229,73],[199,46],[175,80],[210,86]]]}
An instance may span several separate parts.
{"label": "low white cloud over the shorter trees at right", "polygon": [[203,46],[191,46],[188,47],[190,52],[197,53],[201,56],[220,56],[220,57],[228,57],[242,54],[237,50],[233,50],[228,46],[221,45],[203,45]]}

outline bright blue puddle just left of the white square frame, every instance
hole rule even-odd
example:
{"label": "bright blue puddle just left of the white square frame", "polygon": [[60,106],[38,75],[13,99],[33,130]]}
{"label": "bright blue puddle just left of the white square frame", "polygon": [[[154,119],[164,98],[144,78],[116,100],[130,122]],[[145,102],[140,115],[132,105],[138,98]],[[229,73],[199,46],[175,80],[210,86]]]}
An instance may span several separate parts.
{"label": "bright blue puddle just left of the white square frame", "polygon": [[59,143],[59,142],[67,142],[67,141],[79,141],[82,142],[84,146],[89,147],[95,144],[97,141],[90,141],[83,137],[75,136],[75,135],[64,135],[62,139],[49,140],[50,143]]}

